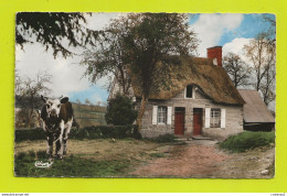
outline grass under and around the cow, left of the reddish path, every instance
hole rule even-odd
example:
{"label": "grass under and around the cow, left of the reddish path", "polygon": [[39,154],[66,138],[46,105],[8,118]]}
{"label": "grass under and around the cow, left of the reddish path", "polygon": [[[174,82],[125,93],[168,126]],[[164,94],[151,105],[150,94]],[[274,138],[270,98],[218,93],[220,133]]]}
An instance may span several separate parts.
{"label": "grass under and around the cow, left of the reddish path", "polygon": [[36,167],[35,162],[47,163],[45,141],[15,143],[14,174],[29,177],[128,177],[135,165],[158,157],[163,144],[123,139],[70,140],[67,156],[53,160],[50,167]]}

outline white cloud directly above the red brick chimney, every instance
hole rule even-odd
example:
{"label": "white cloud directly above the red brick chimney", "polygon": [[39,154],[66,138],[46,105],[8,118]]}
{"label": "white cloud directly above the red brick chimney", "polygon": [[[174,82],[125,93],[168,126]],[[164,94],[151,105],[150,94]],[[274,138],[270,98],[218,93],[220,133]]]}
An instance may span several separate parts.
{"label": "white cloud directly above the red brick chimney", "polygon": [[191,29],[198,34],[201,41],[199,55],[205,57],[206,48],[220,43],[222,35],[238,28],[243,21],[243,14],[200,14],[198,21],[191,24]]}

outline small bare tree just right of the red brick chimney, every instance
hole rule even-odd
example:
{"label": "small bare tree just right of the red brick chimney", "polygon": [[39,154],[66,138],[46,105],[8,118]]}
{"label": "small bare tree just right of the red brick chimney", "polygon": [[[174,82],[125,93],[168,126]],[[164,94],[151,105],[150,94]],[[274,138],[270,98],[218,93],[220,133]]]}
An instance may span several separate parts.
{"label": "small bare tree just right of the red brick chimney", "polygon": [[251,68],[238,55],[228,53],[223,57],[223,66],[235,88],[249,85]]}

